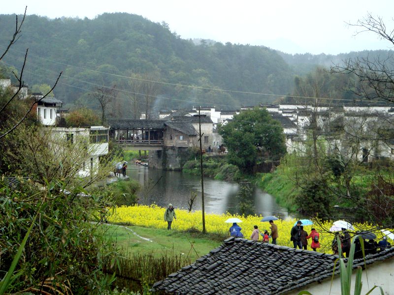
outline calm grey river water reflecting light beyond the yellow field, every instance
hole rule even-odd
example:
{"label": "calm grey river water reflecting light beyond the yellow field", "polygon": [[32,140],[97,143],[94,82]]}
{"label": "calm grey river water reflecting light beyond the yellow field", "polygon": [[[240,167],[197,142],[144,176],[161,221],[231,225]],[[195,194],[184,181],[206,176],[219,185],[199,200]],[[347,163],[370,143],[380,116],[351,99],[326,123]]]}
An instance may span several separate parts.
{"label": "calm grey river water reflecting light beyond the yellow field", "polygon": [[[201,210],[201,178],[178,171],[148,169],[130,164],[126,174],[140,182],[142,189],[138,193],[138,203],[157,204],[167,207],[171,203],[175,208],[188,209],[192,193],[197,193],[193,210]],[[213,178],[204,177],[204,205],[207,213],[239,213],[239,200],[236,197],[238,185]],[[286,218],[287,210],[280,207],[275,198],[255,188],[250,198],[256,214],[275,215]]]}

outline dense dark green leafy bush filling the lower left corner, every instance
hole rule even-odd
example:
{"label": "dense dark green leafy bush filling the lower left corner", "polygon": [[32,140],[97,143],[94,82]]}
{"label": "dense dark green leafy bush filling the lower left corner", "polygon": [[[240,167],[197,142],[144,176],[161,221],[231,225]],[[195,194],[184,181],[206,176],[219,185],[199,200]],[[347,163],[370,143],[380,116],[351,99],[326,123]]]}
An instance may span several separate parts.
{"label": "dense dark green leafy bush filling the lower left corner", "polygon": [[74,294],[98,288],[106,280],[104,258],[117,254],[101,238],[97,225],[84,222],[93,218],[97,197],[79,194],[81,190],[66,193],[65,183],[60,181],[42,186],[30,179],[10,179],[0,181],[2,273],[9,269],[22,237],[33,227],[17,264],[20,276],[7,292],[33,292],[39,285],[48,292],[70,288]]}

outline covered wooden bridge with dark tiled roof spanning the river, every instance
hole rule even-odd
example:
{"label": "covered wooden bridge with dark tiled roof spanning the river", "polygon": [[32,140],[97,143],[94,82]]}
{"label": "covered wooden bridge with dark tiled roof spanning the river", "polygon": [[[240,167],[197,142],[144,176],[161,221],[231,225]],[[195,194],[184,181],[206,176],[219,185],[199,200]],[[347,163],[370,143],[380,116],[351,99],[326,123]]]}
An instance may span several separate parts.
{"label": "covered wooden bridge with dark tiled roof spanning the river", "polygon": [[164,120],[109,119],[109,135],[124,149],[162,149]]}

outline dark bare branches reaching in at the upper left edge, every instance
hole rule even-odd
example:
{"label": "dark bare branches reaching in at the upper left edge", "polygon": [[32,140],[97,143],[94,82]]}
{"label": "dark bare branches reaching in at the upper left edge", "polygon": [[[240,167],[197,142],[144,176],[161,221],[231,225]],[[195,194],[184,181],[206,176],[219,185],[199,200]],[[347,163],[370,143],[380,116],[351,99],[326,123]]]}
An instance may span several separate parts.
{"label": "dark bare branches reaching in at the upper left edge", "polygon": [[[11,40],[8,42],[7,47],[5,48],[4,52],[1,54],[0,56],[0,61],[4,58],[4,56],[8,53],[9,49],[12,47],[12,45],[14,45],[19,37],[20,34],[22,32],[22,25],[25,21],[26,18],[26,11],[27,11],[27,6],[25,8],[25,13],[23,14],[22,20],[20,22],[18,22],[18,16],[16,16],[16,20],[15,20],[15,31],[11,37]],[[15,99],[19,97],[19,94],[21,92],[21,89],[25,86],[25,82],[23,81],[23,73],[25,70],[25,65],[26,65],[26,60],[28,57],[28,52],[29,52],[29,48],[26,49],[26,53],[25,53],[25,58],[23,60],[23,64],[22,64],[22,68],[21,68],[21,72],[19,75],[17,75],[15,72],[13,72],[16,80],[18,81],[18,85],[16,87],[16,90],[14,91],[14,94],[11,95],[11,97],[8,99],[8,101],[1,107],[0,109],[0,113],[6,112],[6,108],[7,106],[9,106],[9,104]],[[0,139],[5,137],[7,134],[11,133],[13,130],[15,130],[25,119],[26,117],[29,115],[29,113],[32,111],[34,105],[36,105],[39,101],[41,101],[42,99],[44,99],[45,97],[47,97],[49,95],[49,93],[52,92],[52,90],[56,87],[56,85],[58,84],[58,81],[60,79],[60,76],[62,75],[62,72],[59,74],[58,78],[56,79],[56,82],[54,84],[54,86],[45,94],[43,95],[43,97],[41,97],[39,100],[35,100],[33,101],[33,103],[31,104],[30,108],[28,109],[28,111],[25,113],[24,116],[22,116],[22,118],[17,118],[16,122],[11,125],[10,127],[6,128],[5,130],[3,130],[3,132],[0,134]]]}

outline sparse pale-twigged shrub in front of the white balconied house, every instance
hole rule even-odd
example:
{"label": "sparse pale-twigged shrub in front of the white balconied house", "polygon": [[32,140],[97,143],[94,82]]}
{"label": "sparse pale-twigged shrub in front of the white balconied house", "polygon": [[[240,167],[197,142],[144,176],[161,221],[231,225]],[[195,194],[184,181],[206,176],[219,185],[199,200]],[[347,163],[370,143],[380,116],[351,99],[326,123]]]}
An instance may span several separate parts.
{"label": "sparse pale-twigged shrub in front of the white balconied house", "polygon": [[[89,131],[88,131],[89,132]],[[7,163],[19,175],[29,176],[45,185],[55,179],[67,182],[68,189],[88,187],[102,180],[111,171],[117,159],[102,157],[100,165],[89,168],[91,177],[81,177],[81,170],[88,168],[87,161],[97,147],[88,144],[86,136],[75,136],[67,141],[56,129],[39,126],[20,126],[18,132],[7,136]]]}

